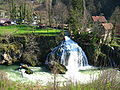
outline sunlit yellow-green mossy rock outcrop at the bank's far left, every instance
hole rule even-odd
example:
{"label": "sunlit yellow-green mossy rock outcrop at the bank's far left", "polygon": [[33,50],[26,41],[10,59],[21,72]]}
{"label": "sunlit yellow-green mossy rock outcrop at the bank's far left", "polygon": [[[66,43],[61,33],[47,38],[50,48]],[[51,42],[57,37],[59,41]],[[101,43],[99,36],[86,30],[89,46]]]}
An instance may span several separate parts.
{"label": "sunlit yellow-green mossy rock outcrop at the bank's far left", "polygon": [[0,64],[11,65],[20,60],[22,46],[19,43],[4,44],[0,43]]}

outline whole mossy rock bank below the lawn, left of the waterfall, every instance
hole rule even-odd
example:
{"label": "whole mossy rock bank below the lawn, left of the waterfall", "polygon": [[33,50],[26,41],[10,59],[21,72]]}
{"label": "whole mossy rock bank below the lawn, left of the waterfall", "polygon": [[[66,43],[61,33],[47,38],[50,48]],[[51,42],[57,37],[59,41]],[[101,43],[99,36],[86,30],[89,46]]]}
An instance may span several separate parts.
{"label": "whole mossy rock bank below the lawn, left of the waterfall", "polygon": [[34,35],[34,39],[31,39],[32,37],[30,35],[10,38],[0,36],[0,64],[24,62],[32,66],[41,65],[45,62],[50,49],[60,41],[59,37],[54,36]]}

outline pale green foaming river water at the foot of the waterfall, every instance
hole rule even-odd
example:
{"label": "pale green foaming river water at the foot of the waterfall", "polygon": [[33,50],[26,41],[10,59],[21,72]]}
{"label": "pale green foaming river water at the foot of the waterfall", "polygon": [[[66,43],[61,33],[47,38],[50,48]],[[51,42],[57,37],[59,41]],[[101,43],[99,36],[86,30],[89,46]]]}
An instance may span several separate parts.
{"label": "pale green foaming river water at the foot of the waterfall", "polygon": [[[3,70],[7,73],[7,78],[11,81],[15,81],[18,83],[29,83],[29,84],[40,84],[43,86],[51,85],[54,83],[54,74],[52,74],[49,70],[43,67],[30,67],[33,70],[33,74],[21,75],[19,70],[15,70],[18,68],[18,65],[5,66],[0,65],[0,70]],[[110,69],[113,70],[113,69]],[[105,70],[81,70],[78,73],[78,80],[81,84],[86,84],[98,80]],[[107,70],[106,70],[107,71]],[[115,70],[113,70],[115,71]],[[116,70],[117,71],[117,70]],[[24,70],[23,70],[24,72]],[[117,80],[120,80],[120,72],[117,71]],[[69,82],[70,80],[66,78],[66,74],[57,74],[56,82],[58,85],[62,86]]]}

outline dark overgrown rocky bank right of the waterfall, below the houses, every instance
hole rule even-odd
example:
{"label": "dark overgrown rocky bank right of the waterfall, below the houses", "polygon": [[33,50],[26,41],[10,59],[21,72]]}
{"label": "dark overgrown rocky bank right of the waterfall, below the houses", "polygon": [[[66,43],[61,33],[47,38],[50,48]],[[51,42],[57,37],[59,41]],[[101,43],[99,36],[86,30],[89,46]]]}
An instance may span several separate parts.
{"label": "dark overgrown rocky bank right of the waterfall, below the houses", "polygon": [[74,39],[85,51],[89,64],[119,67],[120,54],[118,46],[113,46],[112,43],[102,43],[102,38],[98,33],[82,32],[80,35],[76,35]]}

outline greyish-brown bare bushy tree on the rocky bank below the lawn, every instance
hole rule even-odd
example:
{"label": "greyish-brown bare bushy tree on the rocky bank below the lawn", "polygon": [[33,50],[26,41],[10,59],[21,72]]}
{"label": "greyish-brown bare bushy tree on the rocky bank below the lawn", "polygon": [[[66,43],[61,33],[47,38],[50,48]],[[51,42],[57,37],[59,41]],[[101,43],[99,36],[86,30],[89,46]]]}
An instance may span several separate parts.
{"label": "greyish-brown bare bushy tree on the rocky bank below the lawn", "polygon": [[26,44],[23,54],[23,61],[31,64],[32,66],[39,64],[38,54],[39,47],[34,35],[29,35],[26,37]]}

